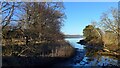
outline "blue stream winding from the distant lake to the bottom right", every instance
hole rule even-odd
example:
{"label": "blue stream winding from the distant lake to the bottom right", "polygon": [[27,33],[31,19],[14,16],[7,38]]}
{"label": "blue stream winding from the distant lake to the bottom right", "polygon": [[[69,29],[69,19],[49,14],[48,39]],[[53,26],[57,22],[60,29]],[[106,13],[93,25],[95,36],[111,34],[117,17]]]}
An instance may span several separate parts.
{"label": "blue stream winding from the distant lake to the bottom right", "polygon": [[70,58],[66,62],[60,63],[55,66],[59,66],[60,68],[92,68],[93,66],[118,66],[118,59],[116,57],[87,55],[87,53],[89,52],[87,52],[87,50],[84,48],[84,45],[77,44],[80,38],[67,38],[65,40],[68,41],[76,49],[76,54],[73,58]]}

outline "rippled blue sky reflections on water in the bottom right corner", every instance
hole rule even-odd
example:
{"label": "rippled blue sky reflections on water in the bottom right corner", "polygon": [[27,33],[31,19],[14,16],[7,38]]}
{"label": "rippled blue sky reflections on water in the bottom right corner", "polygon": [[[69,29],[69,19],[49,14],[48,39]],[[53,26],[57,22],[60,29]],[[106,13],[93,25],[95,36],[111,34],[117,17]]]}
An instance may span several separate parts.
{"label": "rippled blue sky reflections on water in the bottom right corner", "polygon": [[109,58],[108,56],[98,57],[84,57],[83,60],[79,63],[80,66],[108,66],[115,65],[117,66],[117,60]]}

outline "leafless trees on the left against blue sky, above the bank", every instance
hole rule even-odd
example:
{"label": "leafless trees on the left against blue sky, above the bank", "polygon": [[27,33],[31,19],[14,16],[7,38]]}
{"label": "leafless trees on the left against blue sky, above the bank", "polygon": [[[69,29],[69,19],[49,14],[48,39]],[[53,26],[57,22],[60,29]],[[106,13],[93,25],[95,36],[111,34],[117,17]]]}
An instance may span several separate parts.
{"label": "leafless trees on the left against blue sky, above the bank", "polygon": [[[61,2],[3,2],[1,10],[3,38],[8,37],[7,33],[11,33],[12,38],[12,34],[16,33],[13,31],[20,30],[24,37],[34,40],[63,39],[60,28],[65,13]],[[11,24],[15,25],[13,23],[17,23],[16,26],[8,28]]]}

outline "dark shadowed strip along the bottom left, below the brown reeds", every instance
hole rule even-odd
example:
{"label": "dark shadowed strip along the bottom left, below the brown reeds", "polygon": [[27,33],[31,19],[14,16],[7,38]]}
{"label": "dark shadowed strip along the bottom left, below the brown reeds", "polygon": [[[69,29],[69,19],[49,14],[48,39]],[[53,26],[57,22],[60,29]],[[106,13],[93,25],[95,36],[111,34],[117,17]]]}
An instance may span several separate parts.
{"label": "dark shadowed strip along the bottom left, below the brown reeds", "polygon": [[2,68],[34,68],[49,67],[65,62],[75,56],[76,49],[69,57],[23,57],[23,56],[3,56]]}

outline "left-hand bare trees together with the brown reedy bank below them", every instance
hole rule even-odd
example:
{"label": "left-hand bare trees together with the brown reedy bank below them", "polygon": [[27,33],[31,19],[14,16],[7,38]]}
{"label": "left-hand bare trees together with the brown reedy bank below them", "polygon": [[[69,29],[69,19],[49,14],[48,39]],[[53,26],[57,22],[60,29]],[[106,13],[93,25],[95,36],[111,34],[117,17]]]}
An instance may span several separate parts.
{"label": "left-hand bare trees together with the brown reedy bank below them", "polygon": [[73,48],[60,31],[66,18],[64,9],[62,2],[3,2],[2,54],[71,56]]}

